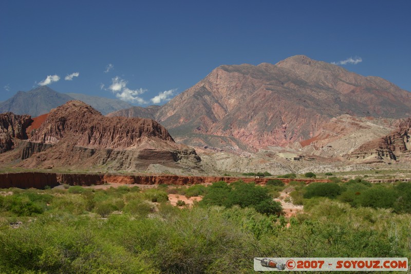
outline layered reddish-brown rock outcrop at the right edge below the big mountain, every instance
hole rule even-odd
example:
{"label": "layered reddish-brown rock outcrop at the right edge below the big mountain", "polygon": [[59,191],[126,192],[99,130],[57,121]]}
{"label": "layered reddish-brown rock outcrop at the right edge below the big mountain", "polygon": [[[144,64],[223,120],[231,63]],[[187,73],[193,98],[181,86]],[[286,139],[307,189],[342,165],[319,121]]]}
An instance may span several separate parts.
{"label": "layered reddish-brown rock outcrop at the right edge below the big mountain", "polygon": [[392,163],[400,159],[411,162],[411,118],[403,119],[390,134],[361,145],[349,159],[367,163]]}

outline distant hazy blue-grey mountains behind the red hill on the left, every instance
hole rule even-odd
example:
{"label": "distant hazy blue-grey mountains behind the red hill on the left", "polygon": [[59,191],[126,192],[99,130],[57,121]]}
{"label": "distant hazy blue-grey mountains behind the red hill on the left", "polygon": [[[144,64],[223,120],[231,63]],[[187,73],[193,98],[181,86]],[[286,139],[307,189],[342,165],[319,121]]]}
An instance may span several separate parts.
{"label": "distant hazy blue-grey mountains behind the red hill on the left", "polygon": [[49,88],[40,86],[28,92],[17,92],[7,101],[0,102],[0,113],[12,112],[18,115],[37,117],[46,114],[50,109],[58,107],[70,100],[80,100],[96,108],[103,115],[131,107],[129,103],[118,99],[109,99],[84,94],[62,94]]}

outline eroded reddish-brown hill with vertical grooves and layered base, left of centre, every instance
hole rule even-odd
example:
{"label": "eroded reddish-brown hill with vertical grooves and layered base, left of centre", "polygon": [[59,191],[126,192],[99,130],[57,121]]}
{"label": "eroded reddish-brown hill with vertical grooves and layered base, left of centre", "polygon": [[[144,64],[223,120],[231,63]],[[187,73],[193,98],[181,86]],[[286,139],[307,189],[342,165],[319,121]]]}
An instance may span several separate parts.
{"label": "eroded reddish-brown hill with vertical grooves and layered base, left of centre", "polygon": [[24,168],[102,171],[190,169],[200,162],[194,149],[176,144],[151,119],[104,117],[81,101],[69,101],[42,120],[30,127],[29,139],[3,153],[0,162],[15,161],[15,166]]}

